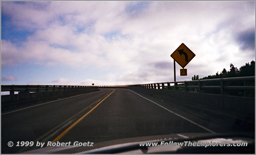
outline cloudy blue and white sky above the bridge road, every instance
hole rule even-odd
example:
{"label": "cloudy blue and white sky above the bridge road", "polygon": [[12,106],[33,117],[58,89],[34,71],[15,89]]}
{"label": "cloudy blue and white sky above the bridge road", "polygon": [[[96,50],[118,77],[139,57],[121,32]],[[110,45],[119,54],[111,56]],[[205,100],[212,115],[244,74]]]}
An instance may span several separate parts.
{"label": "cloudy blue and white sky above the bridge road", "polygon": [[174,81],[255,61],[255,1],[1,1],[1,85]]}

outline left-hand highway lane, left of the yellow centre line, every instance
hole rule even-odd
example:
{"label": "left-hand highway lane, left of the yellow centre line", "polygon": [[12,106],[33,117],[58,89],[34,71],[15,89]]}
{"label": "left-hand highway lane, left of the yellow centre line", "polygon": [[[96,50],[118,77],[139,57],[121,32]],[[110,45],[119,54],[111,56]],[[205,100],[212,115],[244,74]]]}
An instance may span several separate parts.
{"label": "left-hand highway lane, left of the yellow centre line", "polygon": [[[2,113],[1,153],[14,153],[21,149],[21,147],[15,146],[8,147],[9,141],[14,144],[18,141],[48,141],[52,133],[57,130],[59,130],[57,133],[61,132],[61,127],[76,121],[95,105],[91,105],[92,103],[100,100],[111,91],[104,89],[46,104],[41,103],[41,105],[30,106],[30,108],[11,113]],[[82,111],[83,109],[84,111]],[[72,117],[74,115],[75,117]]]}

